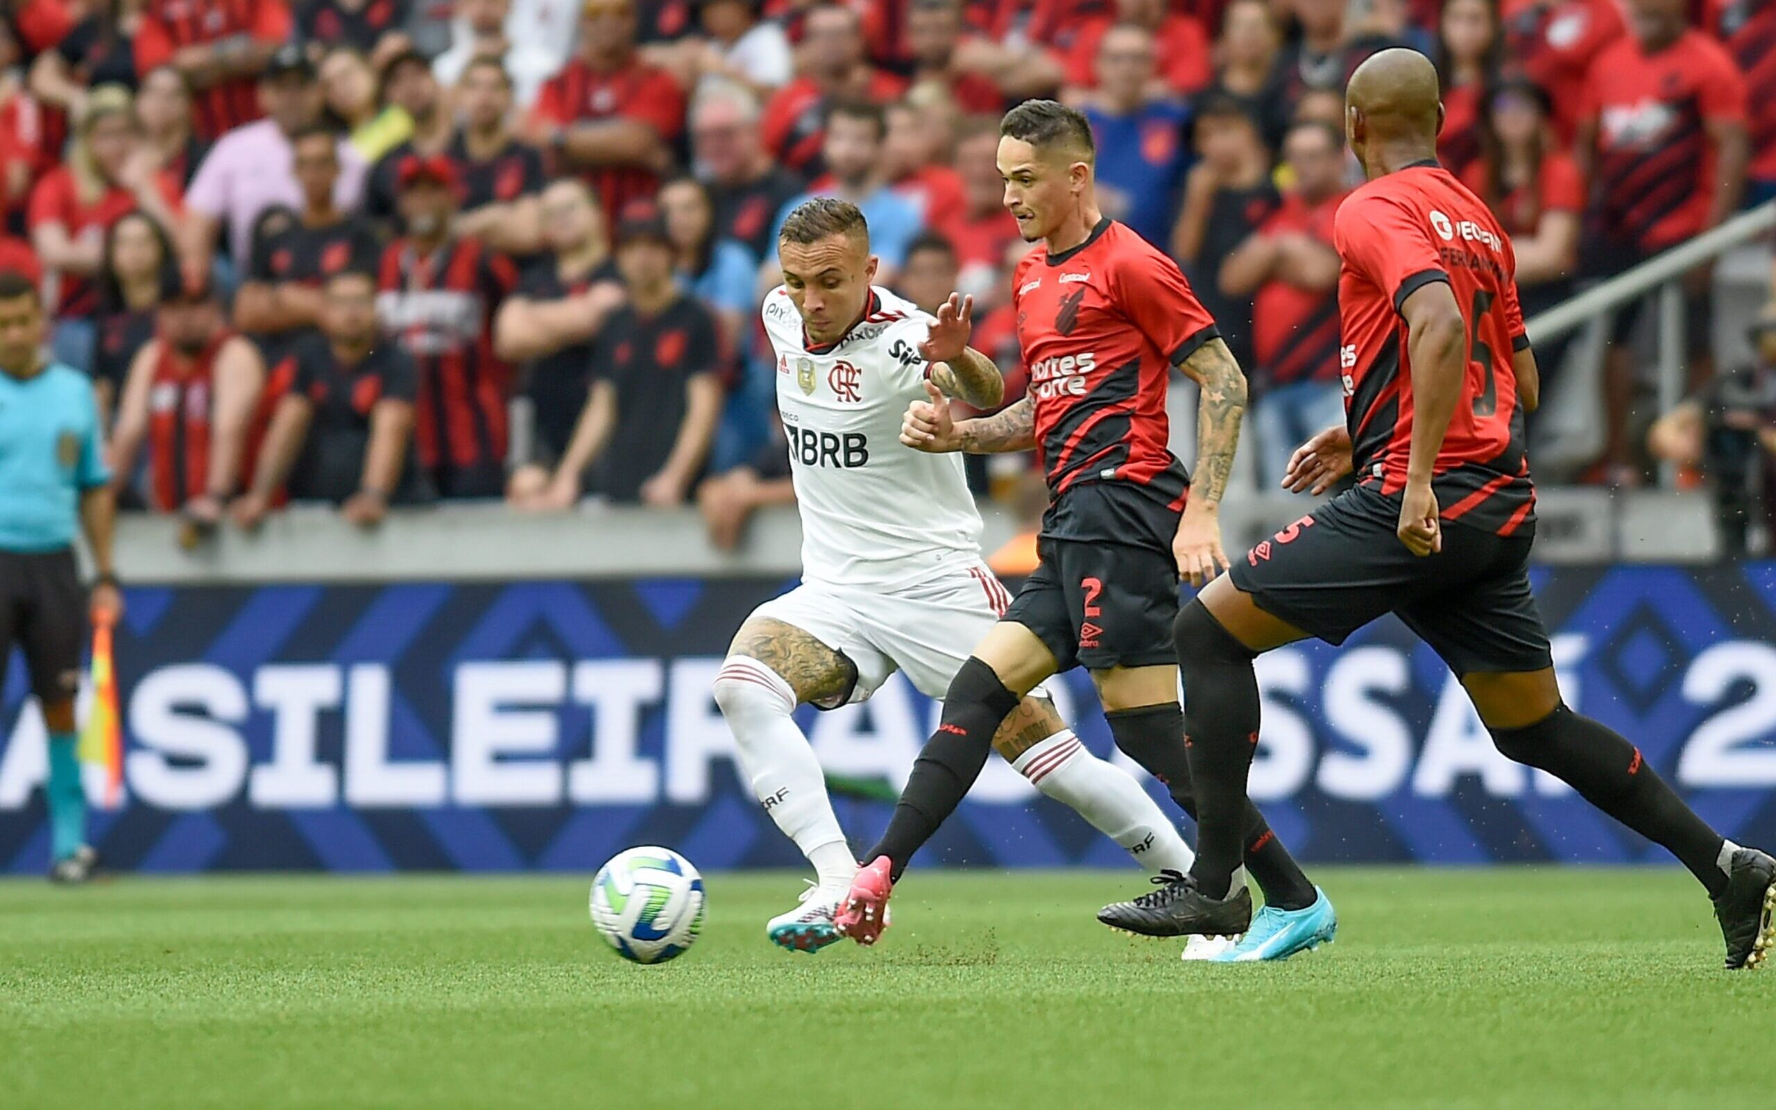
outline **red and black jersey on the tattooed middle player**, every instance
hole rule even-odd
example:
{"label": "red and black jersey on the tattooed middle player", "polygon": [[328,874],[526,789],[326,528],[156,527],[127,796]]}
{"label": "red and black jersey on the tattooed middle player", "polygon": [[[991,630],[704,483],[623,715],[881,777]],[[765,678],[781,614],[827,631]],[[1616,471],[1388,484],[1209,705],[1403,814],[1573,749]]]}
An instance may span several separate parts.
{"label": "red and black jersey on the tattooed middle player", "polygon": [[[1135,487],[1179,510],[1190,476],[1167,448],[1167,378],[1218,332],[1177,263],[1106,217],[1071,250],[1025,254],[1012,307],[1057,510],[1094,483]],[[1051,511],[1044,533],[1067,535],[1064,520]]]}

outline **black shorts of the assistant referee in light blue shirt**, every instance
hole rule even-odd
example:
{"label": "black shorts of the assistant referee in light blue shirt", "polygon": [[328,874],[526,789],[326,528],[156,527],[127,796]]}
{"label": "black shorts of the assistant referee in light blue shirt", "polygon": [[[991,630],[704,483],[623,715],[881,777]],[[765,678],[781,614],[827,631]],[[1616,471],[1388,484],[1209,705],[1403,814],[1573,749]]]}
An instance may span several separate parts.
{"label": "black shorts of the assistant referee in light blue shirt", "polygon": [[39,702],[60,702],[80,691],[87,591],[73,549],[0,551],[0,686],[14,643],[25,648],[30,693]]}

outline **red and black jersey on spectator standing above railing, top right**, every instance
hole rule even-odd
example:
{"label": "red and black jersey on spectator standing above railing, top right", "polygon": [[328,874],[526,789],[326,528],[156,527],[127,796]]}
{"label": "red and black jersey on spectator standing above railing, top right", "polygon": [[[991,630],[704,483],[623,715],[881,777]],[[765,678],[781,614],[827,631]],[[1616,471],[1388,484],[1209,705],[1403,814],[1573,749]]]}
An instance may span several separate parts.
{"label": "red and black jersey on spectator standing above railing, top right", "polygon": [[1746,82],[1700,30],[1652,53],[1629,36],[1591,64],[1586,119],[1597,124],[1591,233],[1662,250],[1709,220],[1716,153],[1707,124],[1744,123]]}

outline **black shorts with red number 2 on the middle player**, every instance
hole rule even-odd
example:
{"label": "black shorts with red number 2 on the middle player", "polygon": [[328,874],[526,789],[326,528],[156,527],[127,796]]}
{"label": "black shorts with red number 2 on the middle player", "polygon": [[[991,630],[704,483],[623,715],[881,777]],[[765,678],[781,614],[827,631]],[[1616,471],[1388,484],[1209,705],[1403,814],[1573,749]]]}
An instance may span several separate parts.
{"label": "black shorts with red number 2 on the middle player", "polygon": [[1035,552],[1043,561],[1002,620],[1035,632],[1057,670],[1177,661],[1177,563],[1170,552],[1050,536],[1037,540]]}

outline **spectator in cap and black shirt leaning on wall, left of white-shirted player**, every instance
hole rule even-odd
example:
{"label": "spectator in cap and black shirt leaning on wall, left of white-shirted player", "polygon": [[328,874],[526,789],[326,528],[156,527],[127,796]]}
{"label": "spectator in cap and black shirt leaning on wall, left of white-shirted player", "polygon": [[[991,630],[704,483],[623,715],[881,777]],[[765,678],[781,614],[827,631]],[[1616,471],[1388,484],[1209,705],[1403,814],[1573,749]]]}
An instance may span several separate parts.
{"label": "spectator in cap and black shirt leaning on wall, left of white-shirted player", "polygon": [[561,510],[581,494],[616,503],[686,501],[721,416],[716,320],[673,277],[666,222],[643,201],[616,229],[629,302],[593,345],[591,392],[549,485],[524,508]]}

